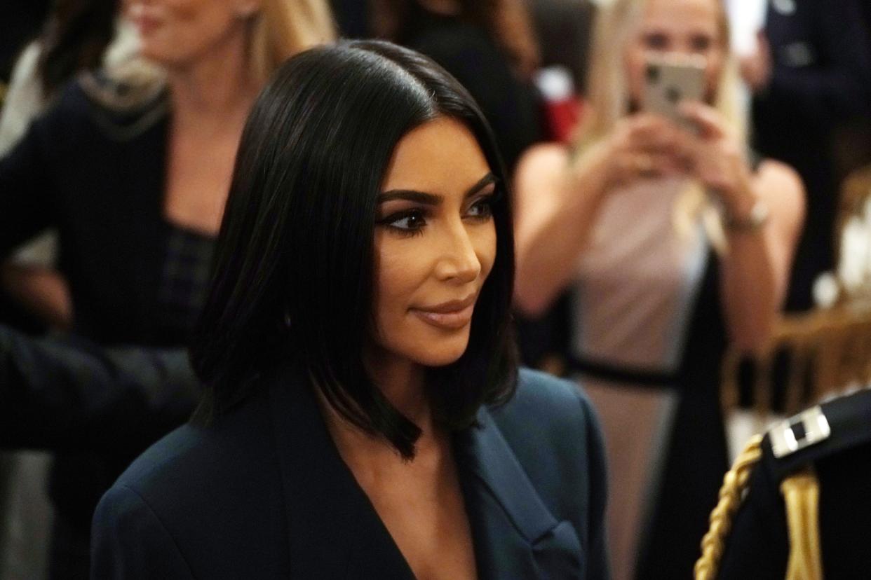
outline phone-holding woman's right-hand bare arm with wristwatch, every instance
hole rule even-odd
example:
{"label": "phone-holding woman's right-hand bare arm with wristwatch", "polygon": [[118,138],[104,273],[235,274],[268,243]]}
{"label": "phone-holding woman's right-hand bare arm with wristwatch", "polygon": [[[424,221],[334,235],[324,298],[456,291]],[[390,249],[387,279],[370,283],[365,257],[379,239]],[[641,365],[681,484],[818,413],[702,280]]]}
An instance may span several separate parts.
{"label": "phone-holding woman's right-hand bare arm with wristwatch", "polygon": [[700,128],[687,140],[692,174],[718,195],[726,221],[749,224],[761,203],[765,223],[730,227],[726,223],[726,254],[722,265],[721,299],[733,343],[753,350],[773,329],[787,291],[793,252],[804,222],[804,189],[787,165],[765,162],[755,174],[741,144],[715,110],[701,104],[684,108]]}

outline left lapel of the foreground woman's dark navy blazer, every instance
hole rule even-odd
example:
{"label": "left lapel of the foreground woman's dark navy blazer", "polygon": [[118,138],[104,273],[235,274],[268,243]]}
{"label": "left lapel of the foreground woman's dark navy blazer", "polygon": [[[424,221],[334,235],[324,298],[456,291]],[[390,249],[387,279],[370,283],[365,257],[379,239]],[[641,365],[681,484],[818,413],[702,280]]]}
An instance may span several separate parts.
{"label": "left lapel of the foreground woman's dark navy blazer", "polygon": [[286,367],[268,388],[291,577],[414,578],[341,460],[307,381]]}

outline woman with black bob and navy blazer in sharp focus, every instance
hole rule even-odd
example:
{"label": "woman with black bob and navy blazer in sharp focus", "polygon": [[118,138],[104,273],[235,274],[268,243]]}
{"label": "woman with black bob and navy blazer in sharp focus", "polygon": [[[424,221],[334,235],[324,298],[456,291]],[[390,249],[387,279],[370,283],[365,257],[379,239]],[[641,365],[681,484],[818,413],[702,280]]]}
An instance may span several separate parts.
{"label": "woman with black bob and navy blazer in sharp focus", "polygon": [[101,500],[94,577],[605,577],[591,407],[517,371],[505,183],[428,58],[288,61],[240,143],[206,396]]}

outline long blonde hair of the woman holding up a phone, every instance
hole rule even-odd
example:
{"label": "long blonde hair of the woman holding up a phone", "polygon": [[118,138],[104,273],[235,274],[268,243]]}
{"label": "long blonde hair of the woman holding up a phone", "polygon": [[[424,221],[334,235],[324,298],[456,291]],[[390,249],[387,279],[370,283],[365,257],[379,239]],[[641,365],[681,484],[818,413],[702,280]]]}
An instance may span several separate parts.
{"label": "long blonde hair of the woman holding up a phone", "polygon": [[[739,105],[739,67],[729,45],[729,20],[722,0],[716,3],[719,37],[724,62],[717,79],[713,106],[743,142],[746,121]],[[645,15],[648,0],[613,0],[599,10],[593,31],[591,63],[587,78],[588,112],[575,139],[575,152],[582,153],[611,134],[630,112],[625,49]],[[701,219],[713,247],[726,252],[726,234],[719,211],[709,203],[706,191],[692,183],[675,202],[673,222],[681,235],[689,235]]]}

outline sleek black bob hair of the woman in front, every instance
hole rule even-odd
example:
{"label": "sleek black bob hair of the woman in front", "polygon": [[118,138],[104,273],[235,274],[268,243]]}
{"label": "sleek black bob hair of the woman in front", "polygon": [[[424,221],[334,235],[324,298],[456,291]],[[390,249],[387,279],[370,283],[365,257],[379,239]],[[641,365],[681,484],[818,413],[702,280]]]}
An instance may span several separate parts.
{"label": "sleek black bob hair of the woman in front", "polygon": [[469,93],[427,57],[378,41],[307,50],[277,71],[242,133],[213,280],[192,337],[205,385],[194,423],[246,397],[256,377],[293,360],[352,423],[414,457],[420,429],[369,379],[376,198],[396,143],[436,117],[475,135],[503,195],[493,205],[496,262],[476,304],[469,346],[430,368],[428,394],[449,430],[517,384],[510,319],[514,240],[502,161]]}

